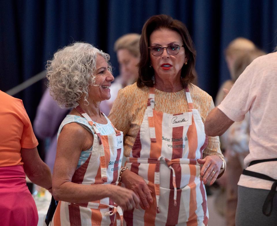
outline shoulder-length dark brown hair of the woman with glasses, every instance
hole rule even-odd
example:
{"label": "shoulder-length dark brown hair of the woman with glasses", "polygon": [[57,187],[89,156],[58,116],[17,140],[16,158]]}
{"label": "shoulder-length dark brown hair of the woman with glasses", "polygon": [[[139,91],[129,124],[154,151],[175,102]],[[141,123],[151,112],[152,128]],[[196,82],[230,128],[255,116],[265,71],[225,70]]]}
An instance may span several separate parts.
{"label": "shoulder-length dark brown hair of the woman with glasses", "polygon": [[143,25],[141,39],[139,41],[141,58],[139,62],[139,79],[137,81],[138,87],[148,86],[153,87],[154,82],[152,77],[154,75],[154,69],[149,67],[150,62],[150,51],[149,39],[153,31],[161,28],[167,28],[172,31],[177,31],[183,40],[183,45],[185,48],[185,54],[188,58],[188,64],[183,65],[181,69],[181,79],[184,87],[186,87],[190,82],[195,79],[195,57],[196,51],[190,34],[186,25],[179,20],[173,20],[171,16],[164,14],[151,16]]}

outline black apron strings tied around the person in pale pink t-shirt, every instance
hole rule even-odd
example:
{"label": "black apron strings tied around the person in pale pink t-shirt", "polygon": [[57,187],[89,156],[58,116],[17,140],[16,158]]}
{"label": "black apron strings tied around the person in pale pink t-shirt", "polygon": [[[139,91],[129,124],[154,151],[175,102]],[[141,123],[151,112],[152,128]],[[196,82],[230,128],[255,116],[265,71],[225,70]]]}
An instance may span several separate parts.
{"label": "black apron strings tied around the person in pale pink t-shirt", "polygon": [[[277,158],[255,160],[255,161],[250,162],[249,166],[252,166],[252,165],[257,164],[257,163],[269,162],[269,161],[277,161]],[[267,181],[274,181],[274,183],[271,186],[271,190],[269,191],[267,197],[265,198],[265,202],[263,204],[263,214],[265,216],[270,216],[270,214],[272,212],[272,208],[273,208],[273,198],[274,198],[274,195],[276,194],[277,179],[274,179],[274,178],[272,178],[270,176],[267,176],[265,174],[262,174],[262,173],[257,173],[257,172],[253,172],[253,171],[245,170],[245,169],[243,170],[242,174],[247,175],[247,176],[257,177],[257,178],[264,179],[264,180],[267,180]],[[267,210],[268,206],[270,206],[270,210],[267,213],[266,210]]]}

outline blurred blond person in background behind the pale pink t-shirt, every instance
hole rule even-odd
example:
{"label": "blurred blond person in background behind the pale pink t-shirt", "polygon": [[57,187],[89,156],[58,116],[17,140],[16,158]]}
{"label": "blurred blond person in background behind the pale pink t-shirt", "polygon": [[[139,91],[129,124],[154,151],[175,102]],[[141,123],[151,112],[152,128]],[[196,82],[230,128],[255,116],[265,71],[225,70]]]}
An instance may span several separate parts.
{"label": "blurred blond person in background behind the pale pink t-shirt", "polygon": [[[229,56],[231,53],[233,54],[232,63],[230,63],[231,56]],[[230,69],[232,80],[227,80],[221,89],[223,89],[223,87],[228,90],[231,89],[239,75],[241,75],[246,67],[255,58],[262,55],[265,55],[265,52],[256,47],[253,48],[252,42],[247,39],[238,38],[232,41],[226,50],[226,60],[229,65],[228,68]],[[223,90],[219,91],[218,98],[216,99],[218,104],[223,100],[223,92]],[[226,203],[222,203],[222,199],[220,199],[216,202],[216,204],[219,204],[217,209],[225,210],[226,225],[235,226],[237,183],[244,169],[243,159],[249,154],[249,113],[245,114],[242,121],[233,123],[224,134],[225,139],[222,142],[222,146],[224,145],[224,156],[228,164],[228,168],[226,169],[224,176],[218,180],[218,183],[226,193]],[[221,198],[222,196],[219,197]]]}

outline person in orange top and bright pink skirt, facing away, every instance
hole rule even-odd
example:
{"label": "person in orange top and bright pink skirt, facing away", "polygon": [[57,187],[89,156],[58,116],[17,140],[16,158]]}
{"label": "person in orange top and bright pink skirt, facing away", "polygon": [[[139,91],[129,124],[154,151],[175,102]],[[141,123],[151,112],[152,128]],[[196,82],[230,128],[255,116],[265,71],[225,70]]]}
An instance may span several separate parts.
{"label": "person in orange top and bright pink skirt, facing away", "polygon": [[38,211],[26,185],[29,179],[52,192],[49,167],[38,155],[22,100],[0,90],[0,219],[2,226],[36,226]]}

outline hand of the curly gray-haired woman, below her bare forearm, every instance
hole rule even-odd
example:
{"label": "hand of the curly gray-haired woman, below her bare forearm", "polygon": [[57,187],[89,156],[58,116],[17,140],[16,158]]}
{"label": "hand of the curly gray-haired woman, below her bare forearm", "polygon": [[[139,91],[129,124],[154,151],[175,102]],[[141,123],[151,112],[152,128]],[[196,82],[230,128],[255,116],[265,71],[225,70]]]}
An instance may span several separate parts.
{"label": "hand of the curly gray-haired woman, below her bare forearm", "polygon": [[124,187],[112,185],[111,198],[124,210],[139,208],[139,197],[132,191]]}

